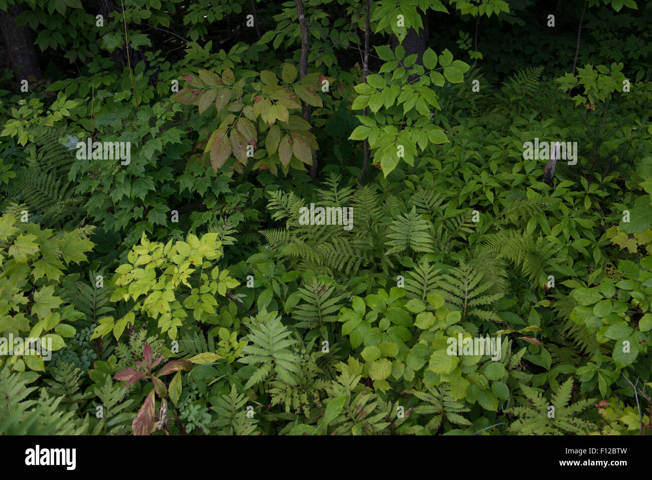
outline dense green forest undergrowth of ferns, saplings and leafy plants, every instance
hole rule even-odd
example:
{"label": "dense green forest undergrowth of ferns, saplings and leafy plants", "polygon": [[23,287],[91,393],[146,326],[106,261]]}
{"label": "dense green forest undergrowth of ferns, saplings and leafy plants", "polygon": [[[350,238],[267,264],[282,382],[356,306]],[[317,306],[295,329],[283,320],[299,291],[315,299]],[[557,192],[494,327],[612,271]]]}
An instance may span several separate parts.
{"label": "dense green forest undergrowth of ferns, saplings and leafy plants", "polygon": [[652,434],[652,5],[560,4],[0,1],[0,432]]}

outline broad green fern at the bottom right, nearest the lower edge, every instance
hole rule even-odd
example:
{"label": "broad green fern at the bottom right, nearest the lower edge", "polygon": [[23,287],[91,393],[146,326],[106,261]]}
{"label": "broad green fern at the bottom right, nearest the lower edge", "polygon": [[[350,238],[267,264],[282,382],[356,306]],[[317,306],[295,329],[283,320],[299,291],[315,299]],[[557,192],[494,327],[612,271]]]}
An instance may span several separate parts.
{"label": "broad green fern at the bottom right, nearest the lower edge", "polygon": [[518,435],[586,435],[594,431],[596,426],[593,423],[577,418],[577,415],[591,406],[595,398],[569,405],[572,384],[572,378],[569,378],[552,397],[550,406],[554,410],[549,408],[540,389],[521,385],[527,403],[505,411],[518,417],[509,426],[509,431]]}

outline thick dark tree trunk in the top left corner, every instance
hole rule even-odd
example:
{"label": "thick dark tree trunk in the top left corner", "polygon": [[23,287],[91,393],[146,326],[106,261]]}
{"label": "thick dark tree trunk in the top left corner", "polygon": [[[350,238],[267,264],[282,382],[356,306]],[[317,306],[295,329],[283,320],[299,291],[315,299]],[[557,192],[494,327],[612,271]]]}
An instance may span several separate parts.
{"label": "thick dark tree trunk in the top left corner", "polygon": [[24,80],[33,75],[40,80],[43,75],[38,65],[38,57],[29,27],[19,27],[14,18],[22,12],[20,5],[7,5],[7,12],[0,10],[0,29],[5,40],[7,58],[11,63],[16,80]]}

